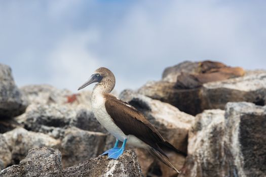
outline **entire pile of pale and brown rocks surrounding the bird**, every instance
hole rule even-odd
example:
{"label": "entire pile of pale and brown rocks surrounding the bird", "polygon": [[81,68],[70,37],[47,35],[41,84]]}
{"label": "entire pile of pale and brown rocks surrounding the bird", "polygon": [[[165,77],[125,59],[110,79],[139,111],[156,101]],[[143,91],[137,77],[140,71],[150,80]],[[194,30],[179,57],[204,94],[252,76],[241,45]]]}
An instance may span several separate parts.
{"label": "entire pile of pale and brown rocks surrounding the bird", "polygon": [[[133,151],[118,161],[97,157],[115,138],[95,119],[91,92],[18,89],[6,65],[0,83],[0,169],[8,167],[0,176],[141,176],[138,161],[144,176],[177,176],[143,149],[134,149],[138,161]],[[166,152],[179,176],[266,175],[266,71],[183,62],[119,97],[187,152],[186,158]]]}

